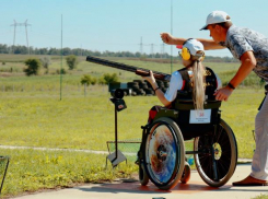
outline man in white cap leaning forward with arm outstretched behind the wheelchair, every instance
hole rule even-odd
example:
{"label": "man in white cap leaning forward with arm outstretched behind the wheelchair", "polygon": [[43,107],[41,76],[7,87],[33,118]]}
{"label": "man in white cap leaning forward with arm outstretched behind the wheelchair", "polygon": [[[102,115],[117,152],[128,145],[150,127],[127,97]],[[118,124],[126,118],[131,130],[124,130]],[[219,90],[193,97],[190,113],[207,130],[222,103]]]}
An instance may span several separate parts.
{"label": "man in white cap leaning forward with arm outstretched behind the wheelchair", "polygon": [[[241,67],[225,87],[214,95],[218,101],[228,101],[236,86],[254,71],[266,81],[268,90],[268,38],[249,30],[236,27],[231,17],[223,11],[213,11],[201,30],[209,30],[212,39],[198,38],[205,50],[229,48],[241,61]],[[200,30],[200,31],[201,31]],[[177,38],[168,33],[161,34],[165,44],[182,45],[186,39]],[[267,91],[266,91],[267,92]],[[267,186],[268,185],[268,97],[259,107],[255,118],[256,150],[253,156],[252,173],[245,179],[233,183],[233,186]]]}

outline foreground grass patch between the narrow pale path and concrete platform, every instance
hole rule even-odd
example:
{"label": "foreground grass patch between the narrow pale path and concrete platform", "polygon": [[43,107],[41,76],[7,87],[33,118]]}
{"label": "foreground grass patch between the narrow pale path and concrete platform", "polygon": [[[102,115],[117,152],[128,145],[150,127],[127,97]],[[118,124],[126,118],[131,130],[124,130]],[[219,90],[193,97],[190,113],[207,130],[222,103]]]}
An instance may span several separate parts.
{"label": "foreground grass patch between the narrow pale path and concrete platform", "polygon": [[[81,183],[110,182],[137,172],[133,163],[105,167],[105,155],[67,151],[1,150],[11,157],[2,197],[40,189],[72,187]],[[1,176],[2,177],[2,176]]]}

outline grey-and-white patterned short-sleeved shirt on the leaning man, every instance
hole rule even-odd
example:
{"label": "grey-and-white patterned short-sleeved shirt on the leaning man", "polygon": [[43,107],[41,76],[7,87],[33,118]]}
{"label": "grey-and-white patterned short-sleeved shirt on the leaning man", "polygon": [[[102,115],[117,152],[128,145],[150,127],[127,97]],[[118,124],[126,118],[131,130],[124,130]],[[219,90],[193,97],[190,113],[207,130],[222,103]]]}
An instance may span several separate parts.
{"label": "grey-and-white patterned short-sleeved shirt on the leaning man", "polygon": [[240,59],[246,51],[253,51],[257,65],[254,72],[268,81],[268,38],[263,34],[232,25],[226,35],[226,40],[221,44],[230,49],[234,58]]}

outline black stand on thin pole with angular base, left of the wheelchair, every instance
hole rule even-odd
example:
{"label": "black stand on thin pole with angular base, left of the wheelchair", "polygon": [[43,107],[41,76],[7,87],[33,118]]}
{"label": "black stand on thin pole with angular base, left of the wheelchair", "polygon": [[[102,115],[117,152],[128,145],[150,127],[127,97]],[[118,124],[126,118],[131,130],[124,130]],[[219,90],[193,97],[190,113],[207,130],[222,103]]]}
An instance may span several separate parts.
{"label": "black stand on thin pole with angular base, left of the wheelchair", "polygon": [[107,155],[106,167],[107,167],[107,159],[110,161],[113,167],[117,166],[120,162],[124,161],[126,161],[127,163],[127,157],[118,150],[118,145],[117,145],[117,112],[127,108],[127,105],[123,99],[124,91],[117,89],[114,92],[112,92],[112,96],[113,97],[110,97],[109,99],[115,105],[115,152]]}

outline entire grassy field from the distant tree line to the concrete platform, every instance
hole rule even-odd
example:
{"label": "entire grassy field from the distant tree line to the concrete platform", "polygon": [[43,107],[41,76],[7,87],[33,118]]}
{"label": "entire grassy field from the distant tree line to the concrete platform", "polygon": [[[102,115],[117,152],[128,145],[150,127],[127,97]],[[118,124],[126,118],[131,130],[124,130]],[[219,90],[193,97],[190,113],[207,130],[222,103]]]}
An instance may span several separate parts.
{"label": "entire grassy field from the distant tree line to the concrete platform", "polygon": [[[105,72],[116,72],[121,82],[139,77],[85,62],[85,58],[81,57],[78,68],[63,75],[60,101],[59,75],[56,73],[60,68],[60,57],[51,58],[49,74],[38,77],[23,74],[22,61],[25,57],[0,55],[0,63],[5,62],[0,66],[1,145],[106,151],[106,141],[114,140],[114,105],[109,102],[107,86],[89,86],[84,92],[80,79],[85,73],[100,78]],[[113,60],[170,73],[168,63]],[[224,81],[230,80],[232,71],[238,67],[237,63],[206,65]],[[67,69],[65,63],[63,67]],[[256,81],[254,74],[248,81],[253,80]],[[255,143],[252,130],[263,97],[264,91],[257,82],[252,87],[241,86],[229,102],[222,103],[222,118],[236,136],[240,157],[250,159],[253,155]],[[128,108],[118,113],[119,140],[140,139],[140,126],[147,122],[148,110],[160,102],[155,96],[126,96],[125,101]],[[115,171],[110,167],[105,169],[105,155],[78,152],[1,150],[1,154],[11,156],[3,196],[75,183],[110,180],[117,176],[129,176],[138,169],[131,162]]]}

